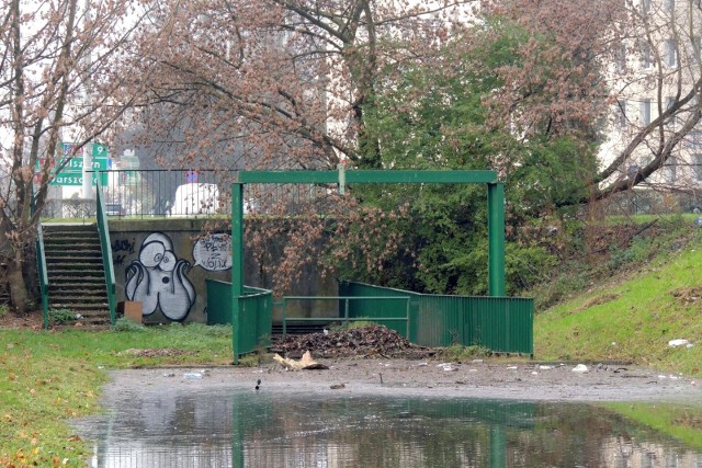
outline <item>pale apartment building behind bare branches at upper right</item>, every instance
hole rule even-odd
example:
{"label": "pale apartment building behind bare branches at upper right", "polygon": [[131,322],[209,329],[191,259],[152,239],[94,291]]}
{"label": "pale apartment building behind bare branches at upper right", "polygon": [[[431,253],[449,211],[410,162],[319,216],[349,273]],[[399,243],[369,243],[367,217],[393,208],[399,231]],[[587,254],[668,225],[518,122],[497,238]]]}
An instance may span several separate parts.
{"label": "pale apartment building behind bare branches at upper right", "polygon": [[[604,182],[645,176],[639,187],[702,189],[700,0],[626,0],[627,20],[609,65],[611,116],[600,164]],[[650,174],[649,174],[650,173]]]}

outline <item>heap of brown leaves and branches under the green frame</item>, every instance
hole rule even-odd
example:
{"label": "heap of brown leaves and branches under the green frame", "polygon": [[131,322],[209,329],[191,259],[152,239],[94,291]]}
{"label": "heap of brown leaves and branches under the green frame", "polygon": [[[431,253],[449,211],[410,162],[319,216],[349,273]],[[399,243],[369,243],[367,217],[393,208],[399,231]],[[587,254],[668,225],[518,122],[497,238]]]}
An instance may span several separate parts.
{"label": "heap of brown leaves and branches under the green frame", "polygon": [[411,344],[395,330],[377,324],[287,335],[278,340],[271,351],[290,357],[299,357],[306,351],[318,357],[419,357],[433,353]]}

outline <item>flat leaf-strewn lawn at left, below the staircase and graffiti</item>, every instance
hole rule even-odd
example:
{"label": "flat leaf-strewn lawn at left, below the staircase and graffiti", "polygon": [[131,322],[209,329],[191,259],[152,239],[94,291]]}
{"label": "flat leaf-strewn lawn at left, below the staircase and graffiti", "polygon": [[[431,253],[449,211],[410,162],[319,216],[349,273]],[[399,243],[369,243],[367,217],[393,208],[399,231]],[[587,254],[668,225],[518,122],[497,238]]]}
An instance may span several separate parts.
{"label": "flat leaf-strewn lawn at left, below the staircase and graffiti", "polygon": [[[0,466],[84,466],[88,446],[71,418],[99,410],[102,369],[226,364],[226,327],[168,326],[140,331],[0,330]],[[149,355],[133,350],[167,350]],[[170,352],[169,352],[170,351]]]}

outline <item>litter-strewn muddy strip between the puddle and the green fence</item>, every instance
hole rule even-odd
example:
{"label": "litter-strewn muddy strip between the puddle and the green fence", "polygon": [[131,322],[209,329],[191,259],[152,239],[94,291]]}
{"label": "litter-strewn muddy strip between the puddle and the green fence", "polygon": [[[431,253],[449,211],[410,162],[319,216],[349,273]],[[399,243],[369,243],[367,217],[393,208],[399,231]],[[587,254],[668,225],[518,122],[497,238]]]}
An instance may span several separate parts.
{"label": "litter-strewn muddy strip between the puddle and the green fence", "polygon": [[[544,366],[532,363],[441,363],[408,359],[336,359],[322,370],[262,367],[155,368],[111,372],[107,395],[150,391],[203,391],[214,388],[258,391],[333,392],[437,398],[490,398],[552,401],[702,402],[702,385],[689,378],[634,366]],[[445,365],[444,365],[445,364]],[[110,398],[107,396],[107,398]]]}

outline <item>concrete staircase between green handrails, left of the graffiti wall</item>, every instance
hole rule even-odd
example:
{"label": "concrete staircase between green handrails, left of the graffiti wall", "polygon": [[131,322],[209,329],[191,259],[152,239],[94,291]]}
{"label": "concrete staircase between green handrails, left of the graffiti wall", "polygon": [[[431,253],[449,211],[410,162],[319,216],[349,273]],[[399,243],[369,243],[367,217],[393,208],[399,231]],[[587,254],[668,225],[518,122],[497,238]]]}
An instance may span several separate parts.
{"label": "concrete staircase between green handrails, left of the graffiti wall", "polygon": [[78,323],[110,326],[97,225],[44,225],[49,309],[80,315]]}

